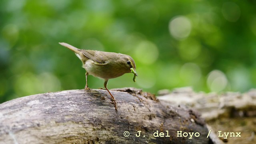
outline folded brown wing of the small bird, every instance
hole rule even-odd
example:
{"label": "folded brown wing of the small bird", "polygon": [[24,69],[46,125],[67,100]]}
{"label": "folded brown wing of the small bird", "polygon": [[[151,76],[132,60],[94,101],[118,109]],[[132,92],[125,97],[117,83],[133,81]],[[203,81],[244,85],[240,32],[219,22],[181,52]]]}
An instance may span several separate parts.
{"label": "folded brown wing of the small bird", "polygon": [[97,50],[82,50],[82,53],[84,54],[84,56],[86,56],[87,58],[90,58],[91,60],[93,60],[94,62],[98,63],[98,64],[106,64],[106,58],[104,56],[102,56],[102,54],[100,55],[100,51]]}

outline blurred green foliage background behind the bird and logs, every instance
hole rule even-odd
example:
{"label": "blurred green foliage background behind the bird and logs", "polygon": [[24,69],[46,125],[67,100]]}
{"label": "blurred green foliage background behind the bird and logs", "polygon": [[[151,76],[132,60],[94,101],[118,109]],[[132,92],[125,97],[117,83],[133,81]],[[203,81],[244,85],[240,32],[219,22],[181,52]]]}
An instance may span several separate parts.
{"label": "blurred green foliage background behind the bird and logs", "polygon": [[125,74],[110,89],[256,86],[255,0],[1,0],[0,103],[84,88],[80,60],[58,42],[132,56],[136,83]]}

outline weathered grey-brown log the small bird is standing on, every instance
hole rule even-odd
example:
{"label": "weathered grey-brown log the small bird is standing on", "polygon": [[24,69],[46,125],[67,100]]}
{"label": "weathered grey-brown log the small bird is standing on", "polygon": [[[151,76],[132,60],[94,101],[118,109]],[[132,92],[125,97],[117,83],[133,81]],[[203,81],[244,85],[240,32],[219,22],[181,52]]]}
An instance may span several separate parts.
{"label": "weathered grey-brown log the small bird is standing on", "polygon": [[[158,100],[134,88],[66,90],[36,94],[0,104],[0,144],[172,143],[208,144],[199,114],[185,106]],[[156,131],[170,137],[154,137]],[[125,137],[124,132],[130,136]],[[136,137],[141,131],[140,137]],[[199,137],[177,137],[177,131]]]}

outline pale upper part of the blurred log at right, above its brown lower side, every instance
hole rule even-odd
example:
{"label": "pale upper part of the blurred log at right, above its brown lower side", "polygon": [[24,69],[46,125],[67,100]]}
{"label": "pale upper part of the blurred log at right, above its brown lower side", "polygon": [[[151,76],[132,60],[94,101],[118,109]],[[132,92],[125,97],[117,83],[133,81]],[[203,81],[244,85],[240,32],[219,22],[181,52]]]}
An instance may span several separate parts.
{"label": "pale upper part of the blurred log at right, above its brown lower side", "polygon": [[[162,94],[161,94],[162,93]],[[195,108],[207,121],[230,116],[256,116],[256,89],[240,92],[194,92],[190,87],[160,91],[158,99]]]}

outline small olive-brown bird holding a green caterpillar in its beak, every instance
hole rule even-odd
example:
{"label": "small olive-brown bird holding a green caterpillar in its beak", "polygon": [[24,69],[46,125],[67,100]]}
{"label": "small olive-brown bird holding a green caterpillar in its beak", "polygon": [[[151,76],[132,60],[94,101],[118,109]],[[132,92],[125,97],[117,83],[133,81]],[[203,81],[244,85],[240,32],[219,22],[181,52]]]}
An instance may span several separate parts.
{"label": "small olive-brown bird holding a green caterpillar in its beak", "polygon": [[138,75],[135,71],[136,65],[132,57],[126,54],[120,54],[115,52],[81,50],[64,42],[59,42],[59,44],[75,52],[76,56],[82,61],[82,67],[86,70],[86,90],[90,90],[87,85],[88,74],[105,80],[104,87],[112,97],[117,112],[116,99],[107,88],[108,79],[116,78],[118,76],[122,76],[125,73],[132,72],[134,74],[133,80],[135,82],[135,78]]}

